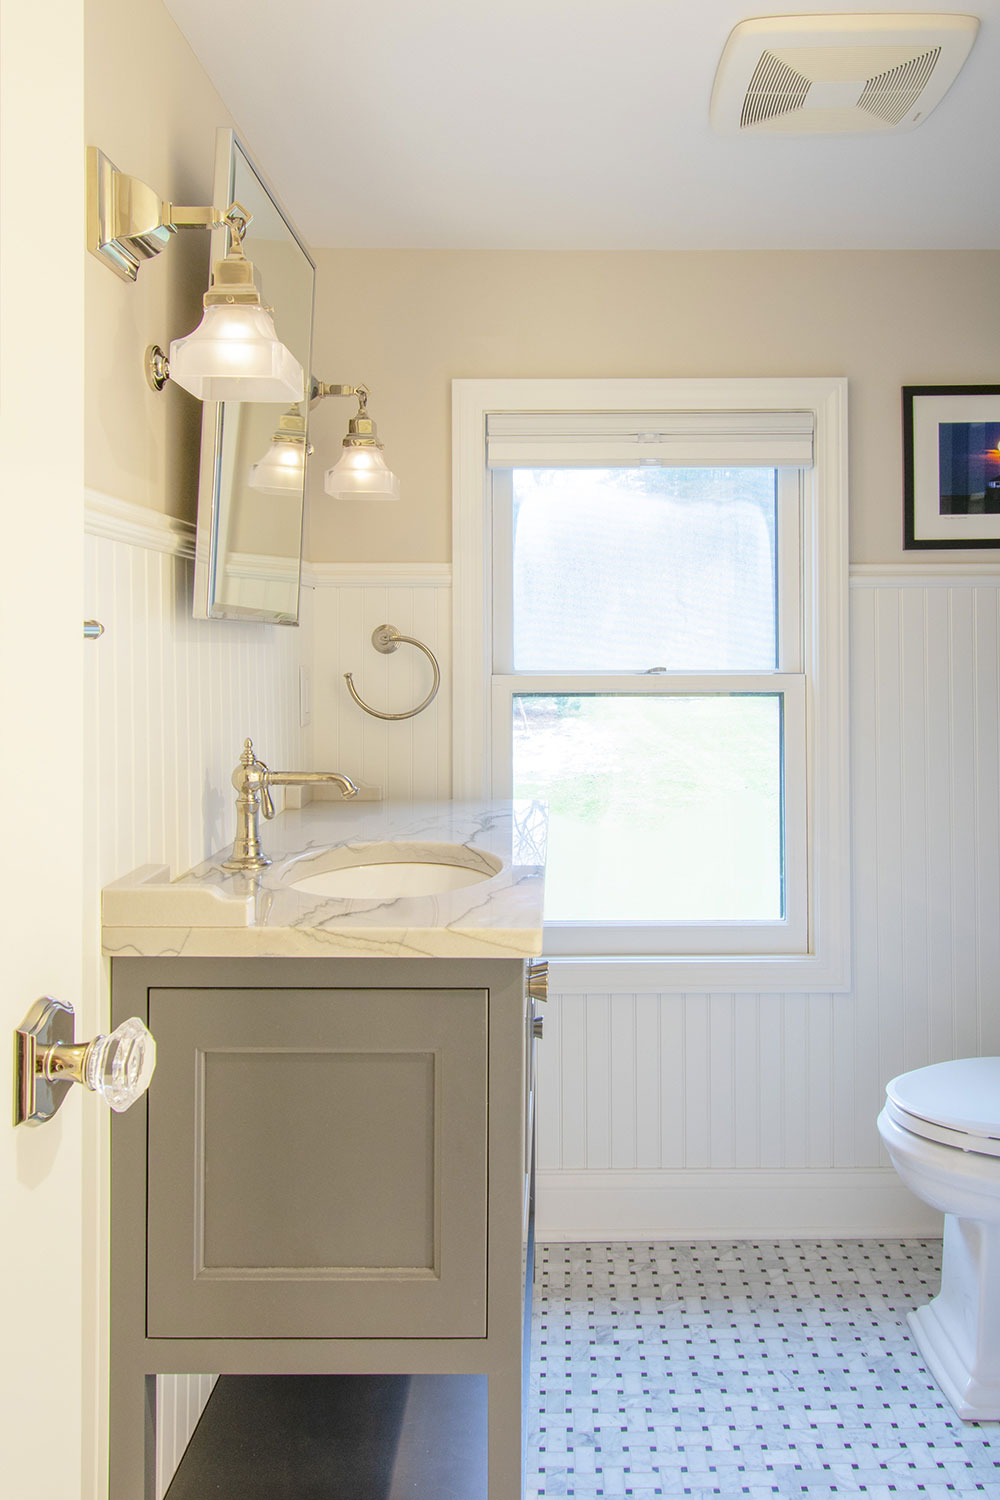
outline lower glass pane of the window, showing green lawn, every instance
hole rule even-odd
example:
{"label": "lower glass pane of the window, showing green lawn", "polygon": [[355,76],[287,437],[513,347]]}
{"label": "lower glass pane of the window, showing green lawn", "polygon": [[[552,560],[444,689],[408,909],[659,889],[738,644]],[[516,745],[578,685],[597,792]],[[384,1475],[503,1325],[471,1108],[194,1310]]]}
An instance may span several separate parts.
{"label": "lower glass pane of the window, showing green lawn", "polygon": [[546,921],[783,918],[780,693],[514,693],[513,760]]}

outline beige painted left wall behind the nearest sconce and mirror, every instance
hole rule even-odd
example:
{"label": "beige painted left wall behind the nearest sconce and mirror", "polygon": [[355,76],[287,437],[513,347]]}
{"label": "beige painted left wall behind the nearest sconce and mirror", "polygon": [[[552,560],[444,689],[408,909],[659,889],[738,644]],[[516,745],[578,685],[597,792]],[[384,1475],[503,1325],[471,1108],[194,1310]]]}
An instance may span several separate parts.
{"label": "beige painted left wall behind the nearest sconce and mirror", "polygon": [[[163,6],[93,0],[85,27],[88,144],[172,202],[211,202],[216,128],[234,122]],[[85,256],[85,483],[189,520],[201,404],[169,386],[151,392],[142,354],[198,322],[208,238],[181,231],[135,284]]]}

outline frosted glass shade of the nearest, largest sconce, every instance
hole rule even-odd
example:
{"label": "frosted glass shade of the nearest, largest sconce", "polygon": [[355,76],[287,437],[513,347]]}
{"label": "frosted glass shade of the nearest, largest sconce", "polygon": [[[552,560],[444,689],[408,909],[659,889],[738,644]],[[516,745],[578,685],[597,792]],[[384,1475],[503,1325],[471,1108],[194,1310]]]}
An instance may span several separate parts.
{"label": "frosted glass shade of the nearest, largest sconce", "polygon": [[169,346],[169,378],[198,400],[301,400],[303,368],[259,306],[216,303]]}

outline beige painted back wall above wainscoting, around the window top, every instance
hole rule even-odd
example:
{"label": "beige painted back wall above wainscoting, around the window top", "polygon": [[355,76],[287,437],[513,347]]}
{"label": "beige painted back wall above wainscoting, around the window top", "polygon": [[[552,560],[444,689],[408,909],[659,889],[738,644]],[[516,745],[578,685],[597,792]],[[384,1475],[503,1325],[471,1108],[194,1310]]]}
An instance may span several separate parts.
{"label": "beige painted back wall above wainscoting, around the window top", "polygon": [[[403,498],[324,495],[352,410],[324,402],[310,424],[315,561],[450,558],[450,381],[490,375],[847,375],[852,561],[901,561],[900,387],[1000,382],[1000,252],[319,250],[316,262],[315,372],[372,387]],[[942,558],[907,554],[930,555]]]}

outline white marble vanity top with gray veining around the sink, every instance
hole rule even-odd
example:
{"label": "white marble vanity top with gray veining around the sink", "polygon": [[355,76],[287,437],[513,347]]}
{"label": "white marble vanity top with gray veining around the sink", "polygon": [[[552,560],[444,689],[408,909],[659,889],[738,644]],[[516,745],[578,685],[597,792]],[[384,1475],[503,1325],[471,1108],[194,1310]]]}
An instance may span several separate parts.
{"label": "white marble vanity top with gray veining around the sink", "polygon": [[[190,957],[468,957],[541,952],[546,816],[528,802],[310,802],[261,820],[271,864],[222,868],[231,846],[171,879],[144,866],[105,886],[103,951]],[[405,860],[490,872],[436,896],[330,897],[295,890],[331,864],[360,864],[366,844]],[[334,854],[334,850],[337,850]],[[499,864],[499,872],[496,870]]]}

